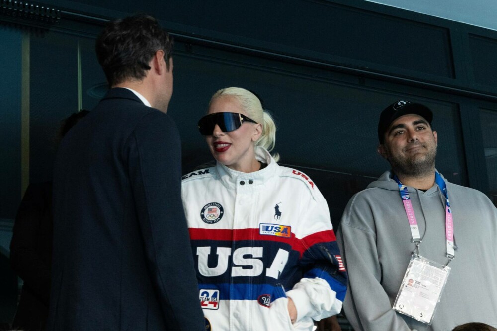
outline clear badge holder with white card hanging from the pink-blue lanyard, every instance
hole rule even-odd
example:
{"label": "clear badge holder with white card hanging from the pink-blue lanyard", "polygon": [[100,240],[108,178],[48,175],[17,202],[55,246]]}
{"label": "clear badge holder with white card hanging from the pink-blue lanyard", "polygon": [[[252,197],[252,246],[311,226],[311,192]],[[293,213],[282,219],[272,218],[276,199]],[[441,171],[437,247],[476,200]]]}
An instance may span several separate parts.
{"label": "clear badge holder with white card hanging from the pink-blue lanyard", "polygon": [[431,325],[450,267],[414,254],[408,265],[393,309]]}

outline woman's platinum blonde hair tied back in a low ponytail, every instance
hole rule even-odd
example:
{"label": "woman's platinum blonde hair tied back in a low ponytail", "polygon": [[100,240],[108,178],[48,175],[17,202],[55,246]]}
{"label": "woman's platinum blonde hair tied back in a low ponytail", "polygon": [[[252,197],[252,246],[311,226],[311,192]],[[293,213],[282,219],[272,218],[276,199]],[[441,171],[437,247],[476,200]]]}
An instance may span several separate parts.
{"label": "woman's platinum blonde hair tied back in a low ponytail", "polygon": [[[276,124],[271,114],[267,110],[262,109],[259,98],[245,88],[227,87],[214,93],[209,105],[214,99],[222,96],[232,96],[237,99],[242,109],[247,113],[247,116],[255,122],[262,124],[262,134],[255,141],[255,146],[263,147],[269,152],[272,151],[276,143]],[[280,159],[278,153],[273,154],[272,157],[276,162]]]}

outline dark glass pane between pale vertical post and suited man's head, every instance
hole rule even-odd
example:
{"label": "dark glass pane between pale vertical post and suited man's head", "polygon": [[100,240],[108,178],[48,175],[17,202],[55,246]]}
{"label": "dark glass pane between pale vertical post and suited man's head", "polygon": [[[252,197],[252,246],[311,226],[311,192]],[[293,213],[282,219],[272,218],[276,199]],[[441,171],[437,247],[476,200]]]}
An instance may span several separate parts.
{"label": "dark glass pane between pale vertical post and suited man's head", "polygon": [[80,105],[93,108],[99,96],[88,92],[97,82],[105,82],[105,77],[96,60],[93,39],[50,32],[32,36],[30,45],[30,180],[44,182],[52,178],[61,120],[78,111]]}

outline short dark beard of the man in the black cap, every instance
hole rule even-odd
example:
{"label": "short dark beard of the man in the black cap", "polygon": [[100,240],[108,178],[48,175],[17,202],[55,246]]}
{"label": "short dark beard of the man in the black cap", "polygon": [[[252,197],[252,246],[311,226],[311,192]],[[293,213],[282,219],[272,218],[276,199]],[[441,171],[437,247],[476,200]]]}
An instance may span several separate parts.
{"label": "short dark beard of the man in the black cap", "polygon": [[437,146],[435,143],[430,146],[430,143],[423,145],[427,148],[426,154],[423,156],[412,155],[411,157],[403,157],[400,155],[393,156],[390,150],[387,151],[390,155],[388,161],[396,175],[404,175],[409,177],[420,178],[426,175],[431,175],[435,171],[435,157]]}

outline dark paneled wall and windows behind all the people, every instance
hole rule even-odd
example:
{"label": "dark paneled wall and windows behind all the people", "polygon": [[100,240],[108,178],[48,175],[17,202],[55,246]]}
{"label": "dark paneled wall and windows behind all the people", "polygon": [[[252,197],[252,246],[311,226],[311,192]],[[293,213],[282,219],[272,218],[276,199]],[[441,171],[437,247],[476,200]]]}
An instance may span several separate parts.
{"label": "dark paneled wall and windows behind all the people", "polygon": [[281,163],[311,176],[335,227],[348,199],[388,168],[376,154],[377,119],[398,99],[434,111],[440,172],[497,195],[496,31],[361,0],[47,0],[32,2],[38,15],[0,3],[5,238],[26,184],[51,178],[60,121],[105,93],[97,33],[133,12],[155,15],[175,37],[169,114],[184,173],[212,159],[196,129],[210,96],[240,86],[271,110]]}

